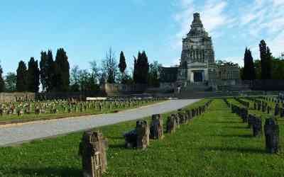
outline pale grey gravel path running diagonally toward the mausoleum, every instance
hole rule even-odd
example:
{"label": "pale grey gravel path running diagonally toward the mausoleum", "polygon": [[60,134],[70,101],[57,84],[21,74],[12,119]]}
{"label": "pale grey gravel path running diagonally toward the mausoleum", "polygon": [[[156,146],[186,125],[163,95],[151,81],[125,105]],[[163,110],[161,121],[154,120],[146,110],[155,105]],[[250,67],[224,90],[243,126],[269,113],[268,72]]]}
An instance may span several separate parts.
{"label": "pale grey gravel path running diagonally toward the mausoleum", "polygon": [[70,132],[112,125],[127,120],[137,120],[149,115],[166,113],[185,107],[199,100],[171,100],[154,105],[144,106],[133,110],[124,110],[119,113],[104,115],[88,115],[80,118],[65,118],[60,120],[48,120],[32,122],[11,127],[0,127],[0,146],[21,144],[33,139],[65,135]]}

